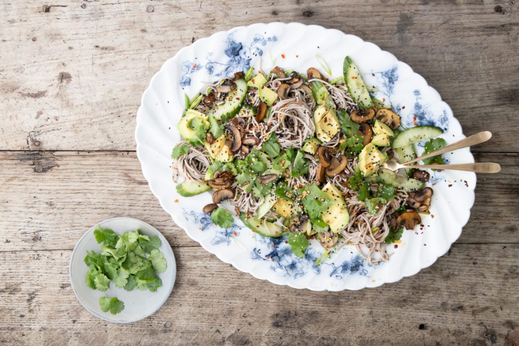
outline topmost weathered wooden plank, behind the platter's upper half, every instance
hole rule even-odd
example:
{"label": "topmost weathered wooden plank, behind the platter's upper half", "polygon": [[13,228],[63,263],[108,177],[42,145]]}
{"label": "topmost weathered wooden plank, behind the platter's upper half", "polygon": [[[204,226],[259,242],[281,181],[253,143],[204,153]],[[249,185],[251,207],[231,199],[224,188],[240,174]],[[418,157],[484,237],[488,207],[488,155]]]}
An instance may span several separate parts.
{"label": "topmost weathered wooden plank, behind the platter's upper half", "polygon": [[515,3],[19,0],[0,10],[0,149],[132,150],[141,95],[163,62],[194,39],[278,20],[373,41],[423,75],[466,133],[494,133],[478,150],[519,151]]}

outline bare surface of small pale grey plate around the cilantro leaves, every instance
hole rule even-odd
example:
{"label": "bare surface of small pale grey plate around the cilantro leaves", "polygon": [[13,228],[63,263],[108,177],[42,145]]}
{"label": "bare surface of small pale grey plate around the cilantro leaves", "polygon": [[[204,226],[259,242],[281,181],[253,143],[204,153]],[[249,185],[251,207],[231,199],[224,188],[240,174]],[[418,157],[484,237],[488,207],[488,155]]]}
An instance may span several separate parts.
{"label": "bare surface of small pale grey plate around the cilantro leaves", "polygon": [[[115,323],[129,323],[142,320],[157,311],[166,302],[173,290],[176,278],[176,262],[173,250],[166,238],[155,227],[141,220],[131,217],[115,217],[104,220],[99,225],[101,228],[112,229],[117,234],[139,229],[141,234],[145,234],[148,237],[158,236],[161,241],[159,250],[164,254],[164,258],[168,262],[166,271],[159,274],[160,279],[162,279],[162,286],[157,289],[157,292],[138,289],[128,292],[123,288],[115,287],[113,283],[110,283],[110,288],[106,292],[88,287],[85,281],[88,267],[84,262],[84,258],[87,251],[101,252],[101,244],[95,241],[93,233],[94,229],[97,228],[97,225],[95,225],[79,239],[72,252],[69,268],[72,289],[81,305],[100,319]],[[112,315],[109,311],[103,312],[99,306],[99,298],[104,295],[107,297],[117,297],[123,301],[125,303],[124,310],[115,315]]]}

